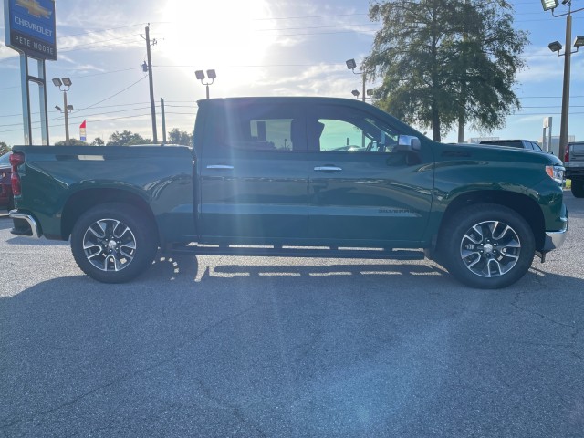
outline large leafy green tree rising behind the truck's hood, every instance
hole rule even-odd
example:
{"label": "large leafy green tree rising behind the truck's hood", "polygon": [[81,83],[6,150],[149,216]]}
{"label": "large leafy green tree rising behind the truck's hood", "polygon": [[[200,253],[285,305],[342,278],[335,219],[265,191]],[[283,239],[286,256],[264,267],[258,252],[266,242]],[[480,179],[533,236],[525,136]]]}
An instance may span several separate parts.
{"label": "large leafy green tree rising behind the truck's hood", "polygon": [[376,104],[431,128],[435,141],[461,118],[479,130],[503,126],[519,108],[512,87],[527,44],[510,11],[505,0],[373,3],[370,18],[383,27],[363,68],[383,78]]}

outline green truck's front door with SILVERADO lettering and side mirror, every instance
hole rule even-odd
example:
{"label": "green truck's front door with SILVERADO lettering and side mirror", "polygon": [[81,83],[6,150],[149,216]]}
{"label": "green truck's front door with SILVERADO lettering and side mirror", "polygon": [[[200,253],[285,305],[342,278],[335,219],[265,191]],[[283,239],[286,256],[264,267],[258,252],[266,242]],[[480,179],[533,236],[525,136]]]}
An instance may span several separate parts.
{"label": "green truck's front door with SILVERADO lettering and side mirror", "polygon": [[329,245],[422,240],[433,190],[432,151],[366,110],[320,105],[308,113],[310,236]]}

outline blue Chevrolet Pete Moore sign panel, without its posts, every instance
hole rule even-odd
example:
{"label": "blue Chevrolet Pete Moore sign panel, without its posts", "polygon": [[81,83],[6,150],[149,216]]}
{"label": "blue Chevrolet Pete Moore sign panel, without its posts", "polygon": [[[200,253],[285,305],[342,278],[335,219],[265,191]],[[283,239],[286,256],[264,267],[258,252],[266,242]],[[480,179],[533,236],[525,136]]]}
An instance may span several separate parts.
{"label": "blue Chevrolet Pete Moore sign panel, without its posts", "polygon": [[6,46],[36,59],[57,59],[55,0],[5,0]]}

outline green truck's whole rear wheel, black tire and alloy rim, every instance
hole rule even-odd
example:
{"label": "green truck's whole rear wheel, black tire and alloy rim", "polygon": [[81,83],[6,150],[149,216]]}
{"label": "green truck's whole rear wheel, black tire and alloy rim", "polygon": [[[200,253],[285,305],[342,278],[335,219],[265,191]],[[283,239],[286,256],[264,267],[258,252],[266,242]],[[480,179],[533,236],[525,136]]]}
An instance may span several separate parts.
{"label": "green truck's whole rear wheel, black tire and alloy rim", "polygon": [[88,276],[124,283],[151,266],[158,249],[156,227],[135,207],[104,203],[82,214],[71,231],[71,251]]}

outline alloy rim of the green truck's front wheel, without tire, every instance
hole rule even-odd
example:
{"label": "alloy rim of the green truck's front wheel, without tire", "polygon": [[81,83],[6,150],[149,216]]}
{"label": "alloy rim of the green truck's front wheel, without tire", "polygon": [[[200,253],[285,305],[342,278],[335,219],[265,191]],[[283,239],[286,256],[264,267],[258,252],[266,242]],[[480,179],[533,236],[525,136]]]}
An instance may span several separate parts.
{"label": "alloy rim of the green truck's front wheel, without tire", "polygon": [[469,228],[460,245],[464,266],[477,276],[503,276],[519,260],[521,241],[516,231],[499,221]]}

